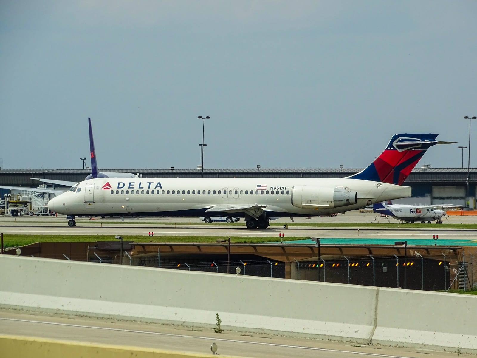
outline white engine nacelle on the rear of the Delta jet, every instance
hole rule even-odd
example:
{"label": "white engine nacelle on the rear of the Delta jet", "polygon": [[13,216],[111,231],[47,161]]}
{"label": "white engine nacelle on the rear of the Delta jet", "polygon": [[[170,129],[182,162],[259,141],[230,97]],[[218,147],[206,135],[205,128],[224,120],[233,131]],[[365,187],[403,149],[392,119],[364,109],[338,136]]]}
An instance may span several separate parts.
{"label": "white engine nacelle on the rear of the Delta jet", "polygon": [[356,191],[341,188],[298,185],[291,189],[291,204],[303,209],[332,209],[353,205],[358,201]]}

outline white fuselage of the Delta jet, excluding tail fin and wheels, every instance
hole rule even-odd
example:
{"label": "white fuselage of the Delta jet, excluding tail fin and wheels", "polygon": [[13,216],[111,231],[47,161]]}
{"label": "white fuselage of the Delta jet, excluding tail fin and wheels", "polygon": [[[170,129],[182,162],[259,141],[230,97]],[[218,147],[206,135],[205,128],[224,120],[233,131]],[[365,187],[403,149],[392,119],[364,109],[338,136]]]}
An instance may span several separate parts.
{"label": "white fuselage of the Delta jet, excluding tail fin and wheels", "polygon": [[[332,190],[352,191],[357,200],[338,204]],[[410,187],[346,178],[96,178],[53,198],[48,207],[77,216],[203,216],[217,205],[259,204],[269,217],[284,217],[344,212],[410,196]]]}

